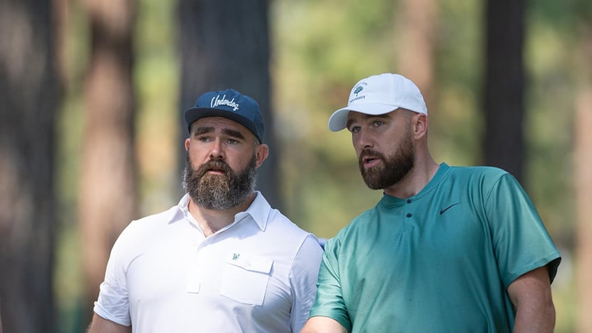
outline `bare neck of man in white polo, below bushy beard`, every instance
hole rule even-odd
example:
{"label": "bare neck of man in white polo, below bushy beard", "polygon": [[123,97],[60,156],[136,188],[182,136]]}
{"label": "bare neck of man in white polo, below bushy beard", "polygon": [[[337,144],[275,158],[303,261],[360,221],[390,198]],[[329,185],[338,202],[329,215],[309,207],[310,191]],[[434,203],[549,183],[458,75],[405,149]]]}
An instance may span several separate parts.
{"label": "bare neck of man in white polo, below bushy beard", "polygon": [[205,237],[214,235],[222,228],[232,224],[235,221],[235,215],[244,212],[251,206],[257,193],[251,193],[240,205],[224,210],[207,209],[197,205],[189,198],[188,209],[195,221],[198,222]]}

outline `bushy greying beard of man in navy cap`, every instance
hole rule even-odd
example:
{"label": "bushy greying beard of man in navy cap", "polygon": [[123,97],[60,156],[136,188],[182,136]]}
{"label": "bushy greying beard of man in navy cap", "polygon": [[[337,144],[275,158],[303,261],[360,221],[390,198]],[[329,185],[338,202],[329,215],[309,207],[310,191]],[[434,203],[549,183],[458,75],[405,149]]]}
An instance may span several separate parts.
{"label": "bushy greying beard of man in navy cap", "polygon": [[[193,168],[191,159],[186,156],[183,172],[183,188],[191,200],[206,209],[225,210],[237,207],[253,193],[256,182],[256,157],[239,173],[232,171],[222,160],[212,160],[199,168]],[[223,175],[209,175],[208,170],[220,170]]]}

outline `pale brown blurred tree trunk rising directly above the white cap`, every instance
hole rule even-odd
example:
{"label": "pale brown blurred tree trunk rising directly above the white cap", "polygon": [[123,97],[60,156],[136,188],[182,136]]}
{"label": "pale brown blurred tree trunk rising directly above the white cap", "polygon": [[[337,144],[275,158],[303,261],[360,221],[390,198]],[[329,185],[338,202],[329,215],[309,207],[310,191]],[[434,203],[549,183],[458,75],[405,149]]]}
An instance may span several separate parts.
{"label": "pale brown blurred tree trunk rising directly above the white cap", "polygon": [[[438,3],[435,0],[403,0],[400,73],[417,84],[422,91],[427,109],[433,101],[434,43],[438,26]],[[428,111],[429,112],[429,111]]]}

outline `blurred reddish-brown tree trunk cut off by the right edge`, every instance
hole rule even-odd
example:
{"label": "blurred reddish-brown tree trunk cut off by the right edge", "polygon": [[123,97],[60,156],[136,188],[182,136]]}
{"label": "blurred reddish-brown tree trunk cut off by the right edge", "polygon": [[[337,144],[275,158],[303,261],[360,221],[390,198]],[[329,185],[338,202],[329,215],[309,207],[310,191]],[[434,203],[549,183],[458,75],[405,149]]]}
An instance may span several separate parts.
{"label": "blurred reddish-brown tree trunk cut off by the right edge", "polygon": [[577,205],[577,332],[592,332],[592,25],[583,24],[576,68],[582,80],[577,91],[575,117],[575,190]]}

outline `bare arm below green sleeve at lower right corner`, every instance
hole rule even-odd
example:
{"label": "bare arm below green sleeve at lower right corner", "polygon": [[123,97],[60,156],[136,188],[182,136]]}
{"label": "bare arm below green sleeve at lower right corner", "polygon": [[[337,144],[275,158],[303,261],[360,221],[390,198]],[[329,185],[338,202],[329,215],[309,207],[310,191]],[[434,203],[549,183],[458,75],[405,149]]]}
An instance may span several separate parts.
{"label": "bare arm below green sleeve at lower right corner", "polygon": [[555,306],[547,266],[519,276],[508,286],[508,295],[516,308],[515,333],[553,332]]}

